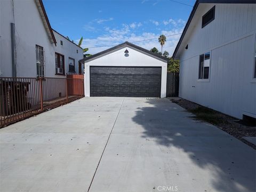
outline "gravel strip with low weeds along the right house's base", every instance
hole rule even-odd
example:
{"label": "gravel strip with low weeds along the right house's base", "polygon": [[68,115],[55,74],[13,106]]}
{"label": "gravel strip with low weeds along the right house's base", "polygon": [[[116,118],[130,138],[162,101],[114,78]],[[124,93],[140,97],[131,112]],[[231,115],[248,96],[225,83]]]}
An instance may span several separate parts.
{"label": "gravel strip with low weeds along the right house's base", "polygon": [[[173,103],[177,103],[181,107],[185,108],[189,112],[195,114],[191,118],[197,120],[203,120],[214,124],[219,129],[229,133],[229,135],[243,141],[243,143],[256,149],[256,145],[250,143],[242,137],[256,137],[256,127],[255,126],[245,126],[245,122],[232,118],[231,116],[225,115],[218,111],[211,110],[209,108],[203,107],[196,103],[187,101],[186,99],[170,99]],[[209,118],[210,115],[210,118]]]}

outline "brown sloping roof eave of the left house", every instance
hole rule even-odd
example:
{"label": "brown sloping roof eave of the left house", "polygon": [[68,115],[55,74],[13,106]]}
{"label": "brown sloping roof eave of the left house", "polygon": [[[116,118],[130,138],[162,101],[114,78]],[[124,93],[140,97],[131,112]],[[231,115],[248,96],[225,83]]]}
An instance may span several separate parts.
{"label": "brown sloping roof eave of the left house", "polygon": [[43,4],[42,0],[35,0],[35,2],[36,2],[36,5],[37,5],[37,9],[39,11],[39,14],[41,15],[41,18],[43,20],[44,27],[45,27],[45,29],[47,31],[49,39],[50,39],[51,43],[54,43],[55,46],[56,46],[57,41],[56,41],[56,39],[54,37],[50,21],[48,19],[48,16],[46,14],[45,9],[44,9],[44,4]]}

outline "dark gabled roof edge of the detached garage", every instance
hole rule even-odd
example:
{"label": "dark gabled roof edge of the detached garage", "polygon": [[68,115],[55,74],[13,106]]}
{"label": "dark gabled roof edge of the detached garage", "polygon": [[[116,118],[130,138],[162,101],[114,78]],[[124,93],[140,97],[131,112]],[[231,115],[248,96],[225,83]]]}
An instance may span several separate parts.
{"label": "dark gabled roof edge of the detached garage", "polygon": [[149,51],[148,49],[142,48],[142,47],[140,47],[140,46],[138,46],[138,45],[134,45],[134,44],[132,44],[132,43],[130,43],[130,42],[128,42],[128,41],[125,41],[125,42],[122,43],[122,44],[116,45],[116,46],[114,46],[114,47],[111,47],[111,48],[109,48],[109,49],[106,49],[105,51],[99,52],[99,53],[94,54],[94,55],[92,55],[92,56],[90,56],[90,57],[86,57],[86,58],[84,58],[84,59],[82,59],[82,60],[79,60],[79,62],[85,62],[85,61],[92,60],[92,59],[94,59],[95,57],[101,57],[101,56],[103,56],[103,55],[106,55],[106,54],[109,53],[109,52],[112,52],[112,51],[114,51],[114,50],[116,50],[116,49],[120,49],[120,48],[123,48],[123,47],[126,47],[126,46],[129,46],[129,47],[133,47],[133,48],[135,48],[135,49],[138,49],[138,50],[140,50],[140,51],[142,51],[142,52],[144,52],[144,53],[147,53],[147,54],[153,56],[155,59],[158,59],[158,60],[161,60],[161,61],[164,60],[164,61],[167,62],[167,61],[169,60],[167,57],[164,57],[164,56],[162,56],[162,55],[158,55],[158,54],[156,54],[156,53],[153,53],[153,52]]}

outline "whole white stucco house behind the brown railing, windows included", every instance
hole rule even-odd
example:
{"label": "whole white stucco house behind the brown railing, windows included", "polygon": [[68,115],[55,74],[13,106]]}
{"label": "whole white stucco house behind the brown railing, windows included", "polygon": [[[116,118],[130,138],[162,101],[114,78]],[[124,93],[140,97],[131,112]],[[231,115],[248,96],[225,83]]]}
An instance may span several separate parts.
{"label": "whole white stucco house behind the brown railing, windows included", "polygon": [[0,77],[78,73],[83,49],[51,28],[42,0],[0,1]]}

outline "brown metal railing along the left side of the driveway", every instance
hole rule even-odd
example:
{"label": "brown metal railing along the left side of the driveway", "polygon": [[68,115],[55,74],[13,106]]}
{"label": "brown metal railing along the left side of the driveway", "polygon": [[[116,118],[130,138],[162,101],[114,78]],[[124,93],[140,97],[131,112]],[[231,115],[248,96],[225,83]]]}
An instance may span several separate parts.
{"label": "brown metal railing along the left side of the driveway", "polygon": [[82,76],[0,78],[0,128],[82,97]]}

